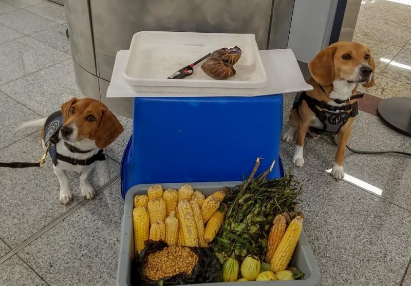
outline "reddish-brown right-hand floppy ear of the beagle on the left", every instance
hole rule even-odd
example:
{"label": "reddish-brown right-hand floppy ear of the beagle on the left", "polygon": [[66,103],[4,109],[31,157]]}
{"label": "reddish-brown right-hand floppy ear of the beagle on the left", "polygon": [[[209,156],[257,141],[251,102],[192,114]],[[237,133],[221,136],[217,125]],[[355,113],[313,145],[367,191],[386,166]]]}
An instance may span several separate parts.
{"label": "reddish-brown right-hand floppy ear of the beagle on the left", "polygon": [[119,137],[123,130],[123,125],[116,116],[110,110],[104,109],[100,127],[97,130],[96,146],[100,149],[107,147]]}

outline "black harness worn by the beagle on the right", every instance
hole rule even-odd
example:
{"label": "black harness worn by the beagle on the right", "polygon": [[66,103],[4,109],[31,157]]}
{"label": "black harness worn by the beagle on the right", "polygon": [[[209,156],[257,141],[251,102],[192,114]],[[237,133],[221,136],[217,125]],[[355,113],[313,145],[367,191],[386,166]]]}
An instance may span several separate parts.
{"label": "black harness worn by the beagle on the right", "polygon": [[[325,93],[323,87],[320,85],[321,90]],[[323,128],[310,127],[310,130],[316,134],[321,135],[335,135],[340,131],[341,127],[347,123],[350,117],[356,117],[358,115],[358,103],[354,102],[349,104],[350,100],[359,99],[364,96],[364,93],[357,94],[350,97],[347,100],[334,99],[335,103],[345,105],[333,106],[329,105],[324,101],[319,101],[307,96],[307,93],[299,92],[295,97],[292,109],[296,109],[298,113],[298,108],[300,107],[303,100],[307,102],[308,107],[315,113],[315,116],[323,123]],[[317,107],[323,108],[320,110]],[[351,110],[352,109],[352,110]],[[340,111],[344,110],[344,111]],[[348,112],[351,110],[350,112]]]}

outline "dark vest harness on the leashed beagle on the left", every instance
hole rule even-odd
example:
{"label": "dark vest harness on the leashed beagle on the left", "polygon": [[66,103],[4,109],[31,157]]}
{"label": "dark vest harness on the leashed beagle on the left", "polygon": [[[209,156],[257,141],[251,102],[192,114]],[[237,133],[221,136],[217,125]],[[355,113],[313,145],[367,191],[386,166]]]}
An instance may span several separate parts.
{"label": "dark vest harness on the leashed beagle on the left", "polygon": [[[61,111],[56,111],[50,115],[45,123],[45,128],[44,128],[44,142],[50,145],[49,149],[49,154],[51,157],[51,160],[53,161],[54,166],[58,164],[57,160],[61,160],[64,162],[67,162],[71,165],[81,165],[81,166],[88,166],[91,165],[92,163],[96,161],[104,161],[106,158],[103,154],[103,150],[99,150],[97,154],[91,156],[90,158],[87,159],[74,159],[71,157],[63,156],[60,153],[57,152],[57,148],[55,147],[55,144],[57,144],[60,141],[59,138],[59,132],[61,127],[63,126],[63,116]],[[73,153],[87,153],[90,152],[91,150],[81,150],[77,147],[74,147],[67,142],[64,142],[64,145],[67,147],[67,149],[70,152]]]}

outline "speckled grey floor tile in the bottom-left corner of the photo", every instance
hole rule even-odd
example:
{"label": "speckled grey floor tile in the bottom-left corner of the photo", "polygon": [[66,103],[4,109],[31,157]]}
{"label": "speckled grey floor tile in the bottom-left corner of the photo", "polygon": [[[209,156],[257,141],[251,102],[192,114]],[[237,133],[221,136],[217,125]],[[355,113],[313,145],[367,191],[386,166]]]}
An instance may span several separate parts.
{"label": "speckled grey floor tile in the bottom-left corner of the photo", "polygon": [[0,264],[0,273],[0,285],[2,286],[47,285],[16,255]]}

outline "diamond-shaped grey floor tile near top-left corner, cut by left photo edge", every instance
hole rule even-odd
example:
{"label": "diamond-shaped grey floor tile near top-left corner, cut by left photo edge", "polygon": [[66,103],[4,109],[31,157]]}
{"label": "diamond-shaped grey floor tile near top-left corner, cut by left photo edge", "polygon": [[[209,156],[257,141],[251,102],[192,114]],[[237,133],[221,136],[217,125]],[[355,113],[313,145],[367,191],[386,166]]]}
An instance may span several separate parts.
{"label": "diamond-shaped grey floor tile near top-left corner, cut by left photo edge", "polygon": [[24,9],[0,15],[0,23],[26,35],[59,25]]}

